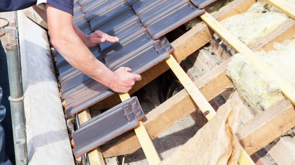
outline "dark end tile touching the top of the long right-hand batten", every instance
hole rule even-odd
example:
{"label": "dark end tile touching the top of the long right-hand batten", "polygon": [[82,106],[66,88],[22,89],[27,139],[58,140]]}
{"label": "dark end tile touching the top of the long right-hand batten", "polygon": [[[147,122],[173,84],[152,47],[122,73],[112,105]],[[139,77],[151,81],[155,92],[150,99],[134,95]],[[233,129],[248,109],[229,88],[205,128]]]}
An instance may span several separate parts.
{"label": "dark end tile touching the top of the long right-hand batten", "polygon": [[147,26],[147,30],[153,39],[158,39],[203,12],[205,12],[204,9],[198,9],[189,2],[155,20]]}

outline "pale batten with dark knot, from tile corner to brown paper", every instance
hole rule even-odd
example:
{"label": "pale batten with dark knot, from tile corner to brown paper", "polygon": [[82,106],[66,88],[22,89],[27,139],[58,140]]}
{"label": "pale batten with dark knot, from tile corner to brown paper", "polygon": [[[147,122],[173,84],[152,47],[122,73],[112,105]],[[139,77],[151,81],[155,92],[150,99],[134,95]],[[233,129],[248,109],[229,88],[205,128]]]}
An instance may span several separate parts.
{"label": "pale batten with dark knot, from tile corner to brown paper", "polygon": [[187,76],[187,74],[183,71],[183,69],[179,66],[177,61],[170,55],[165,60],[168,66],[171,68],[173,73],[176,75],[178,80],[181,82],[183,87],[189,93],[191,98],[203,112],[208,120],[211,120],[212,117],[216,114],[215,110],[212,106],[207,102],[206,98],[201,94],[199,89],[194,85],[193,81]]}

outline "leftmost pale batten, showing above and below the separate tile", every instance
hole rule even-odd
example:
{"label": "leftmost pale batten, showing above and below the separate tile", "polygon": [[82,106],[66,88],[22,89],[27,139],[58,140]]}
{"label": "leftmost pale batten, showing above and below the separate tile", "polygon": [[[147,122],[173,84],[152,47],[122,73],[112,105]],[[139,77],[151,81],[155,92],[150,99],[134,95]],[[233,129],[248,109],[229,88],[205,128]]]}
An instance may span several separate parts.
{"label": "leftmost pale batten, showing above and below the separate tile", "polygon": [[[78,119],[80,124],[83,124],[84,122],[91,119],[89,109],[86,108],[85,110],[78,112]],[[104,164],[104,158],[101,154],[100,147],[97,147],[91,151],[88,152],[89,162],[91,165],[105,165]]]}

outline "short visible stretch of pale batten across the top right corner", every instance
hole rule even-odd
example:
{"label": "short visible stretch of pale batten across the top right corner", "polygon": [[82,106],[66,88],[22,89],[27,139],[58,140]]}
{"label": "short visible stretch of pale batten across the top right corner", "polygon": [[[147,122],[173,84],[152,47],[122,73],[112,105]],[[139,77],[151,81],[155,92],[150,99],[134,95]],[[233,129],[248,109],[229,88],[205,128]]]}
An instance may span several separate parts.
{"label": "short visible stretch of pale batten across the top right corner", "polygon": [[281,12],[287,14],[289,17],[295,19],[295,6],[294,4],[289,4],[284,0],[264,0],[267,3],[275,6]]}

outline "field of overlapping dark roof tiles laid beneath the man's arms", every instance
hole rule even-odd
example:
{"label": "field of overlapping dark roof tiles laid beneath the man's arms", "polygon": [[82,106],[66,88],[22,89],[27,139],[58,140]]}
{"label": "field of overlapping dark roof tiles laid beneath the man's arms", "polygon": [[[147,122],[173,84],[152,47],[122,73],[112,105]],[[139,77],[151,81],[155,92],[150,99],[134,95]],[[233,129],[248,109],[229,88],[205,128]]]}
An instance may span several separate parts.
{"label": "field of overlapping dark roof tiles laid beneath the man's arms", "polygon": [[[214,1],[214,0],[213,0]],[[173,47],[163,35],[204,12],[202,0],[75,0],[73,23],[86,35],[101,30],[119,38],[89,48],[94,56],[115,71],[124,66],[140,74],[163,61]],[[73,68],[55,50],[56,66],[71,116],[114,94],[106,86]],[[95,69],[95,68],[94,68]]]}

